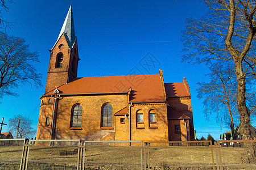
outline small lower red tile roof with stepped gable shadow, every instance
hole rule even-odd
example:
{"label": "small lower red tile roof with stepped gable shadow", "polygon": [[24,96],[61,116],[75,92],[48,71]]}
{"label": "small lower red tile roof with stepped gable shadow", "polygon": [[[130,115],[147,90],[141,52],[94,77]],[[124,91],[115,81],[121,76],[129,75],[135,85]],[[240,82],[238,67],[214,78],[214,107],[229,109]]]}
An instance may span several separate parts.
{"label": "small lower red tile roof with stepped gable shadow", "polygon": [[167,97],[190,96],[183,82],[164,83],[164,87],[166,88]]}

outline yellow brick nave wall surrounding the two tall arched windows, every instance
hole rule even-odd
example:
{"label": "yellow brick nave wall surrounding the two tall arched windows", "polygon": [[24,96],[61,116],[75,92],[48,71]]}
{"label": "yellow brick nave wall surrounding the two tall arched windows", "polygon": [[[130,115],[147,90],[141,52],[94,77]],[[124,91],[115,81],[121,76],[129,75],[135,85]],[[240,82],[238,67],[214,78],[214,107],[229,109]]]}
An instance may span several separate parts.
{"label": "yellow brick nave wall surrounding the two tall arched windows", "polygon": [[[55,139],[114,140],[116,130],[114,116],[113,129],[101,129],[101,108],[105,103],[112,105],[114,114],[126,107],[127,96],[101,95],[60,97],[56,114]],[[75,104],[82,106],[81,129],[70,128],[72,107]],[[43,129],[48,129],[48,127],[44,126],[43,121],[49,114],[52,114],[52,110],[52,105],[43,105],[40,109],[38,139],[49,139],[49,135],[41,134],[46,133]],[[50,117],[50,121],[52,121],[51,118],[52,117]]]}

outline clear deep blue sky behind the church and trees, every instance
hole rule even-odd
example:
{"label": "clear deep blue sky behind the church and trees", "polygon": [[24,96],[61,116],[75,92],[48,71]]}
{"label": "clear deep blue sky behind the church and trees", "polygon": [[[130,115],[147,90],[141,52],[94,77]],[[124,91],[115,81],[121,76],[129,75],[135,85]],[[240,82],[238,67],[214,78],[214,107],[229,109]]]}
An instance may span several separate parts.
{"label": "clear deep blue sky behind the church and trees", "polygon": [[[0,119],[5,123],[14,114],[23,114],[33,120],[36,129],[39,116],[39,97],[43,95],[49,52],[55,44],[67,15],[70,1],[15,1],[4,18],[14,22],[7,29],[9,35],[23,37],[32,51],[40,54],[35,63],[42,73],[43,87],[22,86],[16,89],[20,97],[3,97]],[[228,129],[216,124],[214,117],[205,120],[203,100],[196,97],[196,83],[207,81],[208,69],[204,65],[181,63],[183,48],[180,35],[186,18],[200,18],[205,5],[199,1],[73,1],[73,19],[79,45],[79,77],[126,75],[137,67],[142,74],[158,74],[163,70],[164,82],[182,82],[187,78],[191,87],[194,126],[197,137],[214,138]],[[149,73],[139,61],[150,52],[160,65],[151,67]],[[2,132],[7,132],[3,126]]]}

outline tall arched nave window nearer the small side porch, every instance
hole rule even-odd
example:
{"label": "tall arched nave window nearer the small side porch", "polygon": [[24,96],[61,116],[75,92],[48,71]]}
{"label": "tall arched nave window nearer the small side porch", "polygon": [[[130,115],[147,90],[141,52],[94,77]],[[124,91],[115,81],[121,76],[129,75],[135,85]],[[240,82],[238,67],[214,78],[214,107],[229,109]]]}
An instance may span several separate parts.
{"label": "tall arched nave window nearer the small side porch", "polygon": [[101,127],[112,127],[113,107],[105,104],[101,110]]}

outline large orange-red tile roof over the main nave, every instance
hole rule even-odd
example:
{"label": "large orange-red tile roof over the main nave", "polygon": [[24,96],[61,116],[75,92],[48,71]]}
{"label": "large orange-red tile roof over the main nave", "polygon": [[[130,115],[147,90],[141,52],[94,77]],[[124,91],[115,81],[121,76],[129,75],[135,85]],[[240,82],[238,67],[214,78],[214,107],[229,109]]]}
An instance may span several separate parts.
{"label": "large orange-red tile roof over the main nave", "polygon": [[[159,74],[73,78],[57,89],[61,95],[78,95],[128,92],[130,87],[130,102],[165,100]],[[53,91],[45,95],[52,95]]]}

